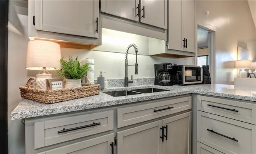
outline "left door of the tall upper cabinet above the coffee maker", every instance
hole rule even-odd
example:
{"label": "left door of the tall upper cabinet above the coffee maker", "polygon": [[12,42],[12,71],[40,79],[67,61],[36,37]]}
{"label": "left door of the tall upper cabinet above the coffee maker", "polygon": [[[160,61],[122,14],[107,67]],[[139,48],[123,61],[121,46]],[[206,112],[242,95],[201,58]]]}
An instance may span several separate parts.
{"label": "left door of the tall upper cabinet above the coffee maker", "polygon": [[168,49],[182,51],[182,1],[169,0],[168,9]]}

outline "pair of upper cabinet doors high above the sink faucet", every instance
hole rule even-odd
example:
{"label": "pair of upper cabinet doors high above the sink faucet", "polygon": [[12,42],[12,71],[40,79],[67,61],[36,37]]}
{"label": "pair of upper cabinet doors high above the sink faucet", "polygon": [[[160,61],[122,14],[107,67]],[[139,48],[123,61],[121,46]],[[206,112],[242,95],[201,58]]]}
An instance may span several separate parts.
{"label": "pair of upper cabinet doors high above the sink faucet", "polygon": [[167,29],[167,0],[102,0],[101,12]]}

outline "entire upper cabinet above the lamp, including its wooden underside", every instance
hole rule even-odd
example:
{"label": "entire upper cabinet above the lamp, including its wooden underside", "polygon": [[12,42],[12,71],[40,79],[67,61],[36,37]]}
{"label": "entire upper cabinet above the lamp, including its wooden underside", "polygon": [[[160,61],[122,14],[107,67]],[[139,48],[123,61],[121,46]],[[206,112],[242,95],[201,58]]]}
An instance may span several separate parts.
{"label": "entire upper cabinet above the lamp, including its wooden underside", "polygon": [[28,38],[93,49],[101,45],[99,14],[99,0],[29,0]]}

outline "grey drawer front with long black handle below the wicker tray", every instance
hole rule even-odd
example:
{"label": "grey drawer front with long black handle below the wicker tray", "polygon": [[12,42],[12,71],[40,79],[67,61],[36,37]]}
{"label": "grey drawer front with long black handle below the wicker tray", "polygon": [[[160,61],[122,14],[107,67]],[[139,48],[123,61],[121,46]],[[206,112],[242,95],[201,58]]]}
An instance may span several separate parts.
{"label": "grey drawer front with long black handle below the wicker tray", "polygon": [[105,111],[35,122],[34,148],[113,130],[114,112]]}

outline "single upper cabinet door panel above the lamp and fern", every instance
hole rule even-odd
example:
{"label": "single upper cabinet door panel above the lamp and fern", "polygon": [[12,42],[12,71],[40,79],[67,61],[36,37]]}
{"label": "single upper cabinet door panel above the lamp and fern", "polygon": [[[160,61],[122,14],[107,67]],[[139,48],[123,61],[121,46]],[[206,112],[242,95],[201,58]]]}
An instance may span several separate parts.
{"label": "single upper cabinet door panel above the lamp and fern", "polygon": [[97,0],[37,0],[36,30],[98,38]]}

